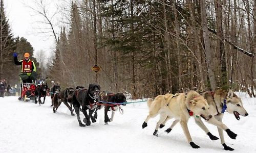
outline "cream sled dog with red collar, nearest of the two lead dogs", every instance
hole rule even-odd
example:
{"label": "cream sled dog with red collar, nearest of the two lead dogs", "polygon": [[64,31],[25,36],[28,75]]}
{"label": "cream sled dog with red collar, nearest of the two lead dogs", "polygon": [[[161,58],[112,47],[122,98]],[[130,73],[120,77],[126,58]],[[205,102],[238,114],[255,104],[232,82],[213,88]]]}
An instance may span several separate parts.
{"label": "cream sled dog with red collar, nearest of the two lead dogs", "polygon": [[148,99],[147,104],[150,112],[142,124],[142,129],[147,126],[147,122],[150,118],[160,114],[160,119],[157,122],[154,132],[155,136],[157,136],[159,125],[164,122],[167,117],[175,118],[176,123],[180,122],[188,143],[193,148],[199,148],[200,146],[196,145],[191,139],[187,122],[190,116],[201,116],[209,123],[225,130],[232,139],[236,139],[236,134],[231,132],[225,124],[212,117],[206,99],[196,91],[189,91],[188,93],[180,93],[178,95],[170,96],[167,101],[164,95],[159,95],[155,100]]}

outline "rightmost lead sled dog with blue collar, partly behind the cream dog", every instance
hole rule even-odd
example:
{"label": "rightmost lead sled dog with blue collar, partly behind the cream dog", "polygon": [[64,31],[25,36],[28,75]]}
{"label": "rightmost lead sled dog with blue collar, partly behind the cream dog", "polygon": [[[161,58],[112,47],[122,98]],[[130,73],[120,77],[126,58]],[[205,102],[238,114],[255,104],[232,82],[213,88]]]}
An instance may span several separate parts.
{"label": "rightmost lead sled dog with blue collar, partly behind the cream dog", "polygon": [[[214,116],[218,121],[222,122],[223,115],[225,114],[225,103],[226,103],[226,110],[230,114],[234,114],[234,117],[236,117],[237,120],[240,120],[239,115],[247,116],[248,113],[243,107],[242,100],[233,93],[232,90],[226,91],[222,89],[216,89],[215,92],[205,91],[200,93],[204,98],[207,100],[207,103],[209,105],[209,111],[212,116]],[[223,109],[224,108],[224,109]],[[194,116],[195,117],[195,116]],[[160,128],[164,126],[166,121],[169,118],[167,117],[166,120],[160,125]],[[217,140],[219,138],[213,136],[207,127],[202,122],[201,118],[196,118],[195,121],[199,127],[201,127],[202,130],[209,136],[211,140]],[[174,121],[173,124],[165,131],[169,133],[172,131],[173,127],[178,121]],[[233,148],[226,145],[224,136],[223,136],[223,129],[218,127],[219,136],[221,138],[221,144],[223,145],[225,150],[233,150]]]}

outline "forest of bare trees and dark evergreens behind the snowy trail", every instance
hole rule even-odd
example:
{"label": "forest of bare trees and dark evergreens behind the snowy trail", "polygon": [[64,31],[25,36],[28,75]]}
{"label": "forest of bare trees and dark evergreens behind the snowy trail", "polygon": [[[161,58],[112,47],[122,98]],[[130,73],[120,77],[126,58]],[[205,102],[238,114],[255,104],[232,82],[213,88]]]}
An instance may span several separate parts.
{"label": "forest of bare trees and dark evergreens behind the snowy trail", "polygon": [[[60,2],[56,16],[47,14],[46,1],[31,7],[45,18],[55,40],[51,58],[35,59],[47,60],[37,63],[42,78],[63,88],[95,82],[133,98],[216,88],[256,96],[255,0]],[[33,47],[12,36],[3,0],[0,10],[0,77],[17,81],[13,50],[33,54]]]}

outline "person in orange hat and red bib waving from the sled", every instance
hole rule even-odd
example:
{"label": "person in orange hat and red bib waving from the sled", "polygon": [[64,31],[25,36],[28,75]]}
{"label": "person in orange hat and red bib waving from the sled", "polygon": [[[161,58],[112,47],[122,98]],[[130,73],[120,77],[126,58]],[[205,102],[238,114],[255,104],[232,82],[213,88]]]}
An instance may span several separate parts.
{"label": "person in orange hat and red bib waving from the sled", "polygon": [[17,53],[13,53],[14,64],[22,66],[19,77],[24,83],[32,83],[37,77],[35,63],[30,59],[29,53],[25,53],[24,59],[20,61],[18,61],[17,56]]}

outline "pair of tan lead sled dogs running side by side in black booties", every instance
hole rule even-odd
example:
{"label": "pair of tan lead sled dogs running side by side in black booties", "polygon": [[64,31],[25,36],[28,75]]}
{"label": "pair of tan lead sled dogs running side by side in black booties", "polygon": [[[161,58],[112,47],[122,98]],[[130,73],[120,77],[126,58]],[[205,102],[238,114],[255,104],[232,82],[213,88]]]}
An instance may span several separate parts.
{"label": "pair of tan lead sled dogs running side by side in black booties", "polygon": [[232,90],[225,91],[222,89],[217,89],[215,92],[206,91],[198,93],[196,91],[189,91],[175,95],[169,93],[158,95],[154,100],[149,98],[147,106],[149,114],[142,124],[142,129],[147,126],[148,120],[160,114],[160,119],[153,133],[154,136],[158,136],[159,127],[162,128],[167,120],[174,118],[175,120],[172,125],[165,132],[169,133],[180,122],[185,137],[193,148],[199,148],[200,146],[193,142],[189,134],[187,122],[190,116],[195,119],[196,124],[204,130],[211,140],[219,138],[209,132],[201,118],[210,124],[216,125],[224,149],[233,150],[233,148],[226,145],[223,130],[231,139],[236,139],[237,134],[233,133],[222,123],[223,115],[226,114],[224,112],[233,113],[237,120],[240,120],[239,115],[248,115],[243,107],[242,100]]}

